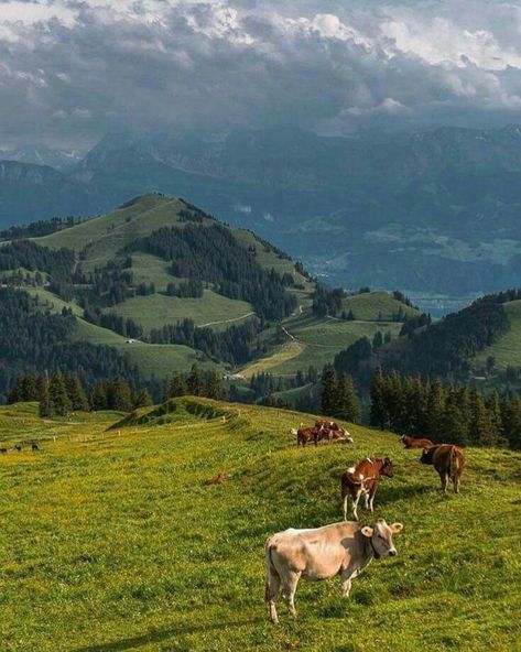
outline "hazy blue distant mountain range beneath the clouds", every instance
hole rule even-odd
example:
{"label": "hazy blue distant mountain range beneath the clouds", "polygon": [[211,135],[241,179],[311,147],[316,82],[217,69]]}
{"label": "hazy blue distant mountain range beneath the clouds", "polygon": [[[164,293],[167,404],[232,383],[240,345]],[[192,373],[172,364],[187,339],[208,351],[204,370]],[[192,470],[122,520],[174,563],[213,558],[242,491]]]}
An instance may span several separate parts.
{"label": "hazy blue distant mountain range beneath the clouds", "polygon": [[0,224],[162,192],[254,229],[332,284],[477,295],[521,284],[520,145],[518,126],[110,134],[62,172],[1,162]]}

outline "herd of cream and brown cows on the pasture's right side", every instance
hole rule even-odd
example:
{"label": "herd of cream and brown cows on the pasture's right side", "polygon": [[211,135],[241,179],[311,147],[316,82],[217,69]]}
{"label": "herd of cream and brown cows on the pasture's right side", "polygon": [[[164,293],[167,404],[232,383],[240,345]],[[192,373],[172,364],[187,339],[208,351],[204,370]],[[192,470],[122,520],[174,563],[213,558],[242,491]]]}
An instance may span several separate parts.
{"label": "herd of cream and brown cows on the pasture's right side", "polygon": [[[317,421],[314,426],[292,428],[296,445],[305,446],[322,439],[352,443],[345,428],[335,422]],[[459,492],[465,454],[454,444],[433,444],[430,439],[416,439],[403,435],[400,441],[405,448],[421,448],[420,461],[434,466],[446,492],[448,480],[454,491]],[[361,526],[358,521],[358,501],[363,496],[365,507],[373,513],[375,496],[382,477],[392,478],[393,466],[389,457],[371,459],[366,457],[356,466],[349,467],[340,478],[344,522],[323,528],[296,530],[290,528],[278,532],[265,542],[265,602],[272,622],[279,622],[275,602],[282,589],[287,609],[296,616],[294,598],[299,579],[329,579],[338,575],[341,594],[349,596],[351,580],[359,575],[373,558],[395,556],[397,548],[392,535],[403,529],[401,523],[389,525],[378,519],[372,526]],[[355,521],[347,521],[347,501],[351,498]]]}

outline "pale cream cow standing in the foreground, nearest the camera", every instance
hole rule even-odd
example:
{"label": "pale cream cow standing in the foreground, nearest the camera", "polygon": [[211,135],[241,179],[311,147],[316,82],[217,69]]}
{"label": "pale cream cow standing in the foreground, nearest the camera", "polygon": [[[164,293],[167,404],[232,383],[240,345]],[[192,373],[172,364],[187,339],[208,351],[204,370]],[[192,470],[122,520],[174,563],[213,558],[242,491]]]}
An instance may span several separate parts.
{"label": "pale cream cow standing in the foreground, nearest the camera", "polygon": [[293,617],[295,590],[301,577],[313,582],[339,575],[343,597],[349,597],[351,579],[373,558],[395,556],[392,535],[403,525],[378,519],[372,526],[343,522],[311,530],[285,530],[265,542],[265,604],[269,618],[279,622],[275,602],[280,589]]}

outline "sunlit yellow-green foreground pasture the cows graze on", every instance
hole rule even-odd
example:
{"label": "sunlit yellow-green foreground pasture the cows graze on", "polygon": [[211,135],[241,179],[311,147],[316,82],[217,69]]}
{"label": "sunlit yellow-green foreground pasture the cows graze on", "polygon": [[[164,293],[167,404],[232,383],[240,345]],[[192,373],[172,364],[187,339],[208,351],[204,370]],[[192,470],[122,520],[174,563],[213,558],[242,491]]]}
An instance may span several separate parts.
{"label": "sunlit yellow-green foreground pasture the cows graze on", "polygon": [[[352,447],[297,449],[286,433],[312,416],[175,404],[167,423],[141,411],[142,425],[110,431],[121,415],[59,423],[35,406],[0,410],[2,446],[41,444],[0,457],[3,650],[515,649],[519,454],[468,449],[462,493],[444,497],[395,436],[349,426]],[[375,561],[348,600],[338,579],[302,582],[299,619],[281,605],[271,626],[267,536],[339,520],[340,471],[384,454],[395,475],[376,517],[404,524],[399,556]],[[224,485],[204,486],[219,471]]]}

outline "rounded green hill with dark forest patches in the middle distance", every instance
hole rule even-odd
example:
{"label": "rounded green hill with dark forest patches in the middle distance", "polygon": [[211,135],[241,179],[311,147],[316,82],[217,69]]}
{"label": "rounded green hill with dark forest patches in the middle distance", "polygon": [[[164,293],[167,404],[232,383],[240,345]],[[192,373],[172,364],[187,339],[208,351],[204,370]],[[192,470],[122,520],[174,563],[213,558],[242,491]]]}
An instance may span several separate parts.
{"label": "rounded green hill with dark forest patches in the middle distance", "polygon": [[[391,294],[371,292],[343,300],[340,312],[355,319],[313,316],[316,282],[302,265],[182,199],[144,195],[63,226],[2,242],[0,275],[37,296],[39,309],[70,311],[74,340],[115,348],[145,379],[196,361],[247,377],[322,369],[362,336],[397,337],[399,319],[416,314]],[[194,333],[176,327],[186,319]]]}

